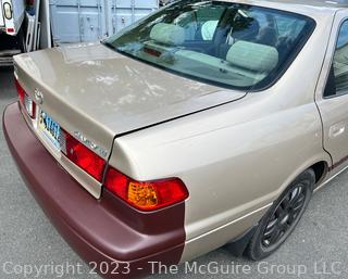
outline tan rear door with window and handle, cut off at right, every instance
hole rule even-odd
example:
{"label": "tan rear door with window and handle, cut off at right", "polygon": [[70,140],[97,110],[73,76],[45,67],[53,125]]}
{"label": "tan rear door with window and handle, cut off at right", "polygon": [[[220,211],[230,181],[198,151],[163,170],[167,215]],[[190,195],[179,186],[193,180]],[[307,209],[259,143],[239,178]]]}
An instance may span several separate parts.
{"label": "tan rear door with window and handle, cut off at right", "polygon": [[333,174],[348,162],[348,13],[338,12],[334,22],[316,92],[323,121],[324,148],[333,160]]}

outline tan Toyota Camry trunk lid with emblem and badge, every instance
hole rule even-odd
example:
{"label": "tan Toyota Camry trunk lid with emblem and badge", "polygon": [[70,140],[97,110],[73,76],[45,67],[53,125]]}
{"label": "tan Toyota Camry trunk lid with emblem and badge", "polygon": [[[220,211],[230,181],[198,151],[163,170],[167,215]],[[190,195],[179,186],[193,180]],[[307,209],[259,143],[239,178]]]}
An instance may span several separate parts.
{"label": "tan Toyota Camry trunk lid with emblem and badge", "polygon": [[[119,54],[100,43],[15,56],[15,73],[41,112],[105,162],[116,136],[241,99],[244,92],[194,81]],[[94,196],[97,181],[40,137],[58,162]],[[97,152],[96,152],[97,153]]]}

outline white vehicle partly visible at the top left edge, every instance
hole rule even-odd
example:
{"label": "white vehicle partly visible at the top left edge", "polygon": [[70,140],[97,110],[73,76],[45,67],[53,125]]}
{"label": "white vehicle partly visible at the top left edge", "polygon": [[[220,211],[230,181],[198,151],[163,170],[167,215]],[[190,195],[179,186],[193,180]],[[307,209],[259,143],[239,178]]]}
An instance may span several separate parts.
{"label": "white vehicle partly visible at the top left edge", "polygon": [[25,0],[0,0],[0,66],[12,65],[12,56],[25,50],[24,16]]}

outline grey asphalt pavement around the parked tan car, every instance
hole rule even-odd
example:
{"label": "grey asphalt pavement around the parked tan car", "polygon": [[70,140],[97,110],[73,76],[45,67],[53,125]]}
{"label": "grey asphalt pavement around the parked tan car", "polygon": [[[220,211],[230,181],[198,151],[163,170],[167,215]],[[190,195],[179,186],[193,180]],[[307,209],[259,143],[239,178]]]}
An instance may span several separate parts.
{"label": "grey asphalt pavement around the parked tan car", "polygon": [[[12,71],[0,71],[1,117],[5,105],[15,100]],[[58,234],[26,189],[8,152],[2,127],[0,129],[0,279],[25,278],[24,265],[28,271],[47,266],[46,272],[37,276],[34,270],[26,278],[99,278],[89,275],[90,269]],[[299,274],[300,278],[348,278],[347,200],[348,173],[344,173],[313,196],[293,236],[261,264],[235,258],[222,248],[195,261],[203,272],[212,263],[211,274],[192,272],[181,266],[174,275],[150,278],[286,279],[298,278]],[[61,275],[67,263],[75,265],[80,275],[77,271],[72,275],[72,268],[70,274]],[[52,271],[50,267],[53,265],[58,267]],[[214,274],[216,265],[223,270]],[[240,269],[241,266],[244,272],[232,268]],[[229,275],[223,274],[228,267]]]}

